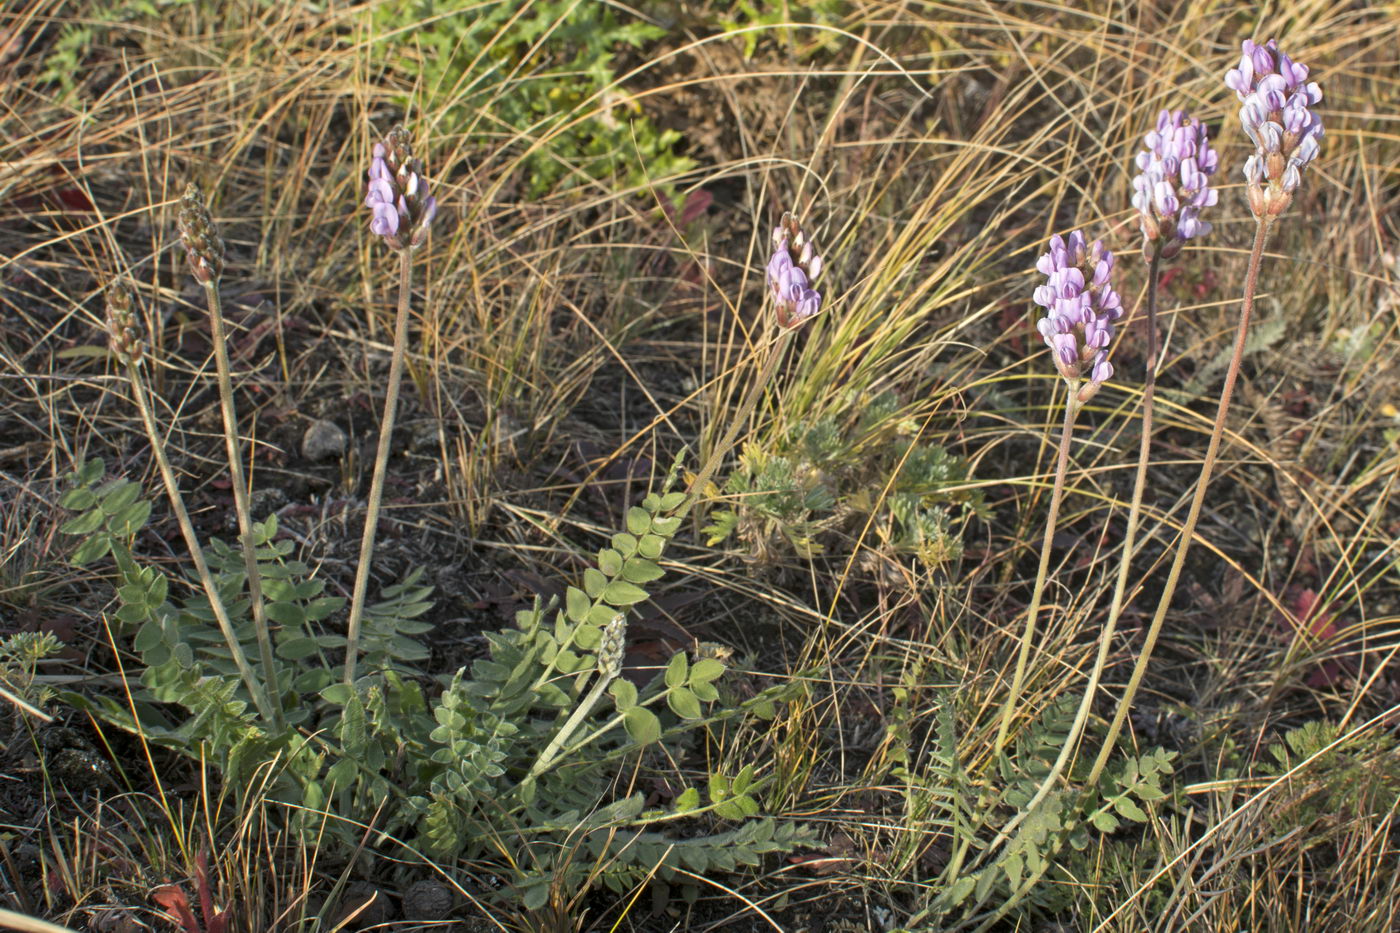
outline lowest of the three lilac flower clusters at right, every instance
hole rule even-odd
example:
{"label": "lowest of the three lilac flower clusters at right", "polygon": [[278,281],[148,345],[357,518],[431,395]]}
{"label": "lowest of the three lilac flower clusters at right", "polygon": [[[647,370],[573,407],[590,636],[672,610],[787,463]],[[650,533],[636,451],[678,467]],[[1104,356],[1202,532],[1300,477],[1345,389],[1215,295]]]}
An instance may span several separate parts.
{"label": "lowest of the three lilac flower clusters at right", "polygon": [[1036,262],[1046,283],[1035,303],[1046,310],[1036,328],[1054,357],[1060,375],[1088,402],[1113,375],[1107,346],[1113,324],[1123,317],[1123,300],[1113,290],[1113,254],[1102,240],[1086,245],[1084,234],[1050,238],[1050,251]]}

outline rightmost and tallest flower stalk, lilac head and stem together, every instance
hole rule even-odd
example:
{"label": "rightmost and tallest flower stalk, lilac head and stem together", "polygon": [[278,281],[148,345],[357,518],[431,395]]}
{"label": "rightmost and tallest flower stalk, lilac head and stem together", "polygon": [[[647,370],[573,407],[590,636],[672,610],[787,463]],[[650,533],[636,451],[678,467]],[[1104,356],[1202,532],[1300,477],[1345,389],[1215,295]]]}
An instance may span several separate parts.
{"label": "rightmost and tallest flower stalk, lilac head and stem together", "polygon": [[1235,331],[1235,346],[1231,353],[1225,382],[1221,387],[1215,422],[1211,424],[1211,438],[1205,445],[1201,474],[1196,481],[1191,506],[1182,525],[1182,537],[1176,544],[1172,567],[1168,570],[1166,586],[1158,597],[1156,611],[1148,625],[1142,650],[1138,653],[1133,674],[1123,691],[1123,699],[1113,713],[1103,747],[1095,758],[1089,782],[1098,780],[1107,765],[1113,747],[1123,730],[1137,696],[1142,675],[1147,672],[1162,623],[1172,608],[1172,597],[1182,579],[1182,567],[1196,535],[1196,525],[1205,504],[1205,490],[1211,483],[1215,459],[1219,457],[1221,440],[1225,436],[1225,417],[1229,413],[1235,381],[1239,378],[1240,361],[1245,357],[1245,342],[1249,336],[1249,319],[1254,310],[1254,291],[1259,287],[1259,269],[1264,258],[1264,244],[1274,219],[1292,202],[1294,192],[1302,181],[1302,170],[1317,157],[1317,140],[1322,137],[1322,119],[1309,108],[1322,101],[1322,88],[1306,83],[1308,66],[1298,64],[1278,49],[1278,42],[1270,39],[1256,45],[1249,39],[1243,43],[1239,67],[1225,74],[1225,85],[1233,90],[1245,102],[1240,108],[1240,123],[1254,141],[1256,151],[1245,164],[1247,181],[1246,195],[1254,213],[1254,245],[1245,268],[1245,294],[1240,301],[1239,326]]}

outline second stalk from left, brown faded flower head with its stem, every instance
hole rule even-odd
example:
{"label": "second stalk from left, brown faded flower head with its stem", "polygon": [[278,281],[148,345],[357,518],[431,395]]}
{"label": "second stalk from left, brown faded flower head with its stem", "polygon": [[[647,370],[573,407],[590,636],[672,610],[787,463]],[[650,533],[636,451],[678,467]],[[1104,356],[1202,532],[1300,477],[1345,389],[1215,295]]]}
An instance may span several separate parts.
{"label": "second stalk from left, brown faded flower head with its stem", "polygon": [[234,513],[238,516],[238,537],[242,544],[244,569],[248,574],[248,594],[252,602],[253,633],[258,637],[258,653],[262,656],[263,678],[272,698],[273,721],[279,726],[281,716],[281,685],[277,677],[277,663],[272,653],[272,635],[267,629],[267,609],[263,602],[262,576],[258,572],[258,546],[253,541],[252,506],[248,483],[244,479],[242,444],[238,440],[238,413],[234,409],[234,381],[228,366],[228,342],[224,332],[224,314],[218,298],[218,279],[224,273],[224,241],[214,227],[209,207],[199,185],[190,182],[181,198],[175,216],[181,241],[189,259],[190,273],[204,286],[209,301],[210,342],[214,345],[214,361],[218,371],[218,403],[224,420],[224,447],[228,454],[228,471],[234,486]]}

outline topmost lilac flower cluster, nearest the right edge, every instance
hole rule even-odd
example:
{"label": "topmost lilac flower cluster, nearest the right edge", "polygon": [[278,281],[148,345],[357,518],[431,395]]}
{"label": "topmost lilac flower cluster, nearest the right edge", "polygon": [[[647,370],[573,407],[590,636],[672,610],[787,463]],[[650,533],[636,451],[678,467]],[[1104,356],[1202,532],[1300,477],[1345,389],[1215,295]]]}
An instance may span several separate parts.
{"label": "topmost lilac flower cluster, nearest the right edge", "polygon": [[1264,45],[1245,39],[1239,67],[1225,73],[1225,85],[1243,102],[1239,119],[1254,141],[1245,163],[1250,210],[1277,216],[1292,200],[1302,170],[1317,158],[1322,119],[1309,108],[1322,101],[1322,88],[1275,39]]}

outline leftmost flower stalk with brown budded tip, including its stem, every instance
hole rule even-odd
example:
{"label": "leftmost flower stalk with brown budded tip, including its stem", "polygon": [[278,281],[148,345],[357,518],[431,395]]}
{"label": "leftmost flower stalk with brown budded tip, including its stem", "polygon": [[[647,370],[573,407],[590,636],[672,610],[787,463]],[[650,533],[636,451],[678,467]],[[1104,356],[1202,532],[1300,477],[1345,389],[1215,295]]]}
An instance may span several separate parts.
{"label": "leftmost flower stalk with brown budded tip, including its stem", "polygon": [[155,429],[155,416],[151,413],[150,402],[146,398],[146,385],[141,381],[140,364],[144,357],[144,339],[139,318],[132,307],[132,291],[119,280],[112,282],[106,290],[106,332],[112,354],[126,368],[126,378],[132,384],[132,398],[136,399],[136,408],[141,415],[141,426],[146,429],[146,437],[151,443],[155,465],[161,471],[161,482],[165,485],[171,511],[175,513],[175,521],[179,524],[181,535],[185,538],[185,548],[189,551],[190,560],[195,562],[195,572],[199,574],[200,586],[203,586],[204,595],[209,598],[209,607],[214,612],[218,630],[224,636],[224,644],[228,647],[228,654],[234,658],[234,665],[238,668],[238,675],[242,678],[253,706],[263,719],[272,720],[273,705],[263,686],[258,684],[253,668],[248,664],[248,656],[244,654],[244,647],[234,632],[228,609],[224,607],[224,600],[218,595],[218,586],[214,583],[214,576],[209,572],[209,563],[204,560],[204,549],[199,544],[199,535],[195,534],[195,525],[190,523],[189,511],[185,509],[185,499],[181,496],[175,471],[171,469],[169,458],[165,457],[165,444]]}

